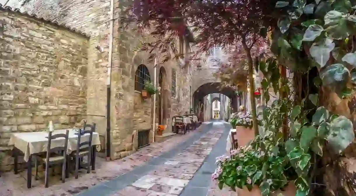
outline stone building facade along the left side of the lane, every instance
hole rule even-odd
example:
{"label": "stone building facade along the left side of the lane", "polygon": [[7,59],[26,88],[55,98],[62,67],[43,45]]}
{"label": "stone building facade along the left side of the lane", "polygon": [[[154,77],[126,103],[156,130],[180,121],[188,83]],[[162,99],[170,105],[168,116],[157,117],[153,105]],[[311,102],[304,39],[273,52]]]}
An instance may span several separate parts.
{"label": "stone building facade along the left side of the lane", "polygon": [[[55,129],[80,127],[84,119],[96,123],[106,150],[108,95],[111,159],[137,150],[138,131],[150,130],[152,142],[153,118],[168,133],[174,115],[189,113],[190,65],[147,62],[148,54],[135,48],[148,37],[119,29],[127,1],[113,2],[110,55],[110,0],[0,0],[0,150],[10,149],[11,133],[45,130],[49,120]],[[152,83],[156,69],[162,89],[156,110],[153,98],[135,89],[139,66]]]}

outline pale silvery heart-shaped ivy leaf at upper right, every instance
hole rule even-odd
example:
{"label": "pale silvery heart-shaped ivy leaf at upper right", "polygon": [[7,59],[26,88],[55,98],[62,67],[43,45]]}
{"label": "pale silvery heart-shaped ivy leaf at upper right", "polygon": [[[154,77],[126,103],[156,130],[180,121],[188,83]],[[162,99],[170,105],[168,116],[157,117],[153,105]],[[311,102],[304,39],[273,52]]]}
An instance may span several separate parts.
{"label": "pale silvery heart-shaped ivy leaf at upper right", "polygon": [[323,68],[326,65],[326,62],[328,62],[330,52],[333,51],[334,47],[335,43],[333,40],[326,38],[324,43],[319,45],[313,43],[312,47],[310,47],[310,55],[320,65],[320,68]]}

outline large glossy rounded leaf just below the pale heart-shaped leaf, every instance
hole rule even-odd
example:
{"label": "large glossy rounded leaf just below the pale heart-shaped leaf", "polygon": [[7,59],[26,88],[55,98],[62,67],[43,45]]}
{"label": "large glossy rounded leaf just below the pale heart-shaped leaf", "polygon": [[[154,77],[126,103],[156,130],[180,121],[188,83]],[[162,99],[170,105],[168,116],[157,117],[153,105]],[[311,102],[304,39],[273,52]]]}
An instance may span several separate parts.
{"label": "large glossy rounded leaf just below the pale heart-shaped leaf", "polygon": [[347,81],[349,73],[349,69],[347,69],[344,65],[337,63],[330,65],[323,70],[320,78],[323,81],[323,85],[329,85],[335,83],[335,81]]}

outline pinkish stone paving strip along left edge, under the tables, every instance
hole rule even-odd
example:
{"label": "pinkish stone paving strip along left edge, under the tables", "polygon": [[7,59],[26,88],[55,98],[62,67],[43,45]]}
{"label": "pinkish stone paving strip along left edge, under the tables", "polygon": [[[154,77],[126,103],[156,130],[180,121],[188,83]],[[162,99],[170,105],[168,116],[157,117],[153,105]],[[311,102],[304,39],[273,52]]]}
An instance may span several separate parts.
{"label": "pinkish stone paving strip along left edge, under the tables", "polygon": [[[68,196],[83,192],[92,186],[103,186],[101,185],[103,182],[127,174],[134,168],[146,164],[157,156],[165,155],[165,153],[181,145],[189,140],[189,138],[195,137],[196,134],[200,134],[200,131],[206,126],[209,126],[209,124],[202,125],[197,130],[191,131],[189,134],[177,134],[162,143],[153,143],[120,160],[106,162],[104,159],[97,158],[96,171],[90,174],[87,174],[86,172],[79,173],[78,179],[74,179],[73,176],[70,176],[69,179],[66,179],[65,183],[62,183],[59,180],[59,175],[50,176],[48,188],[44,187],[43,180],[35,181],[33,178],[32,188],[27,189],[25,177],[26,171],[17,175],[13,174],[13,172],[1,174],[0,196]],[[155,194],[155,192],[151,191],[149,194]],[[100,195],[100,192],[97,195]],[[129,195],[135,194],[130,193]],[[126,194],[125,196],[128,195]],[[135,196],[140,195],[137,194]]]}

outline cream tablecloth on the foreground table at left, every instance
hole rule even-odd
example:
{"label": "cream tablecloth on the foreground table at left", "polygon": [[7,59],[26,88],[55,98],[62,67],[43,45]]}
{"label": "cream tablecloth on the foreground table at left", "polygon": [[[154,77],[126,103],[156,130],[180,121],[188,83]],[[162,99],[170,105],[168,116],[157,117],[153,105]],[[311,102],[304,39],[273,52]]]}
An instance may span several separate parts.
{"label": "cream tablecloth on the foreground table at left", "polygon": [[[54,130],[54,134],[65,134],[67,129]],[[77,149],[78,135],[74,129],[69,129],[68,153]],[[88,141],[90,134],[85,134],[80,137],[80,142]],[[25,156],[23,159],[27,162],[32,154],[46,152],[48,146],[48,131],[28,132],[28,133],[14,133],[11,135],[9,145],[14,145],[17,149],[21,150]],[[56,138],[51,141],[51,148],[64,146],[64,138]],[[94,132],[92,138],[92,145],[96,145],[96,149],[100,151],[100,138],[99,134]]]}

